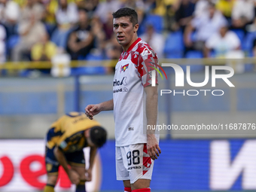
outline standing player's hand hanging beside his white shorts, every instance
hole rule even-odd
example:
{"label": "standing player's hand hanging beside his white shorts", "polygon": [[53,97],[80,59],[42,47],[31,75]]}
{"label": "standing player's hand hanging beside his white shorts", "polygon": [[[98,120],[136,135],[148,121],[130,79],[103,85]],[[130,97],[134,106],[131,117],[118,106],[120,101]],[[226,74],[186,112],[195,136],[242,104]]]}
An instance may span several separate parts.
{"label": "standing player's hand hanging beside his white shorts", "polygon": [[154,134],[148,134],[147,150],[152,160],[156,160],[161,153],[157,138]]}

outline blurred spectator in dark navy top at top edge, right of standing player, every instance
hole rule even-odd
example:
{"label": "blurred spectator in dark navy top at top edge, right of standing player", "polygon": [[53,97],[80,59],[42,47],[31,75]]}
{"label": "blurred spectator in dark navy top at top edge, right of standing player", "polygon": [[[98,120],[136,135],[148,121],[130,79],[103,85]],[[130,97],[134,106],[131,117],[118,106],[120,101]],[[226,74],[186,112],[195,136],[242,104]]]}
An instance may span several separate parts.
{"label": "blurred spectator in dark navy top at top edge, right of standing player", "polygon": [[184,32],[185,26],[192,20],[194,9],[195,4],[191,0],[181,0],[179,2],[178,10],[175,13],[175,21],[181,27],[182,32]]}

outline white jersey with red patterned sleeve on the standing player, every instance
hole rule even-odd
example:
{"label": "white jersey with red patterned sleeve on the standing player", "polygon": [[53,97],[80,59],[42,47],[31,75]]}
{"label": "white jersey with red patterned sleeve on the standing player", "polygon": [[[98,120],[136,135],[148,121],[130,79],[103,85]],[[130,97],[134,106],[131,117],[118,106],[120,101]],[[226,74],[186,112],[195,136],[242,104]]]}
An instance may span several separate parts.
{"label": "white jersey with red patterned sleeve on the standing player", "polygon": [[157,54],[141,38],[120,55],[113,82],[117,147],[147,142],[144,87],[151,86],[155,64]]}

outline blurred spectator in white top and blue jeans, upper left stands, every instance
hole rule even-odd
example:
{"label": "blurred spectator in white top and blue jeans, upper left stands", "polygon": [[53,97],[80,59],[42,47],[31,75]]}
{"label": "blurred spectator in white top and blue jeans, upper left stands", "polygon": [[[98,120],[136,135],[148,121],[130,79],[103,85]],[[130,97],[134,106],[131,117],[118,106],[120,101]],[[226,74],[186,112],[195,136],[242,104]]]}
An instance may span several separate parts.
{"label": "blurred spectator in white top and blue jeans, upper left stands", "polygon": [[55,43],[60,50],[66,50],[67,39],[72,27],[78,22],[78,8],[75,3],[69,3],[67,0],[59,0],[59,8],[56,11],[57,28],[51,36],[51,41]]}

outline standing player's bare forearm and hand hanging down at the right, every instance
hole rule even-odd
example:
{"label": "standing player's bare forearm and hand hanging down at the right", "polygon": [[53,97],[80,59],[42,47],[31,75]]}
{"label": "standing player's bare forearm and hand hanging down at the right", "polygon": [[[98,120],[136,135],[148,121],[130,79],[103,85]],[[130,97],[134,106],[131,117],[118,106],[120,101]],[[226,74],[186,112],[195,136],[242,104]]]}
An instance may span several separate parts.
{"label": "standing player's bare forearm and hand hanging down at the right", "polygon": [[146,93],[147,149],[151,159],[156,160],[161,150],[155,135],[155,130],[148,129],[148,125],[150,125],[150,127],[157,125],[157,85],[155,87],[150,85],[145,87],[144,90]]}

